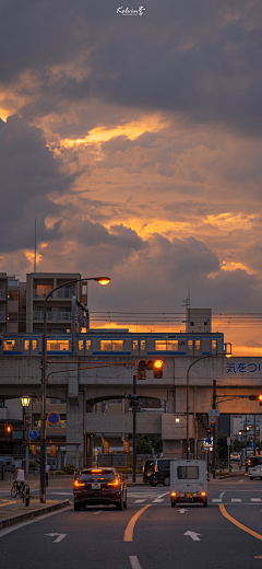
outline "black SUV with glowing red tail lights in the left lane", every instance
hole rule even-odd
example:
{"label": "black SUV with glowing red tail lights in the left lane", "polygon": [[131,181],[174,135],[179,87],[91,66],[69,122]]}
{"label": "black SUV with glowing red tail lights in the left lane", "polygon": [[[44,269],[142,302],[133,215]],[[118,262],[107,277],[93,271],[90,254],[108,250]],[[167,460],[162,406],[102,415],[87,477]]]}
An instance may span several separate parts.
{"label": "black SUV with glowing red tail lights in the left lane", "polygon": [[118,510],[127,508],[126,476],[115,468],[84,468],[74,480],[74,510],[92,504],[110,506]]}

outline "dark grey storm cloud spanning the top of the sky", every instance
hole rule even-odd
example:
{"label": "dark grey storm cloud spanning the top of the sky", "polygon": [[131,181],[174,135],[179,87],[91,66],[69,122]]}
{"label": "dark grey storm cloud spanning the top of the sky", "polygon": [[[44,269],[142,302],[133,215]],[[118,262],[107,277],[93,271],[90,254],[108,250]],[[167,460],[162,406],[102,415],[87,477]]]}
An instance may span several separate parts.
{"label": "dark grey storm cloud spanning the top of the sky", "polygon": [[[98,97],[261,133],[261,2],[152,0],[145,8],[142,18],[123,18],[115,0],[5,1],[1,81],[35,72],[41,114],[61,100]],[[87,78],[64,70],[50,80],[51,66],[80,60]]]}

